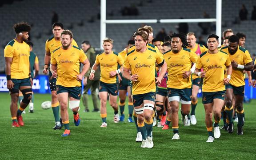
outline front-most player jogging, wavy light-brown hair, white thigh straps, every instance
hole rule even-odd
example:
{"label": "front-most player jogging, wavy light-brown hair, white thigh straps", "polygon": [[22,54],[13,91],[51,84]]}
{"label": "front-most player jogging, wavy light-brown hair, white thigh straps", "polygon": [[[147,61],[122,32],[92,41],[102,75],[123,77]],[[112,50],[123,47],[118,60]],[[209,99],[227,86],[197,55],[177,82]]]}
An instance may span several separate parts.
{"label": "front-most player jogging, wavy light-brown hair, white thigh straps", "polygon": [[[160,84],[166,72],[166,63],[159,52],[147,47],[148,34],[135,32],[135,49],[124,58],[122,75],[132,80],[133,106],[137,115],[137,124],[142,134],[142,148],[152,148],[152,111],[155,104],[156,84]],[[162,67],[155,81],[155,67]],[[131,74],[129,73],[131,70]],[[156,84],[155,84],[156,83]],[[144,123],[145,122],[145,123]]]}

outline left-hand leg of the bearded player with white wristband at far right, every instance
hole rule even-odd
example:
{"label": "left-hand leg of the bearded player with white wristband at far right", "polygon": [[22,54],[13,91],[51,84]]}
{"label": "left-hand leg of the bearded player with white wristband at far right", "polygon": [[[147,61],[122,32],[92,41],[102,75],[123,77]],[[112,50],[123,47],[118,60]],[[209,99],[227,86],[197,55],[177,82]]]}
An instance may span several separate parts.
{"label": "left-hand leg of the bearded player with white wristband at far right", "polygon": [[233,87],[231,84],[226,85],[226,106],[225,106],[225,112],[227,113],[227,126],[228,126],[228,132],[233,132]]}

